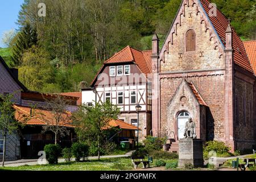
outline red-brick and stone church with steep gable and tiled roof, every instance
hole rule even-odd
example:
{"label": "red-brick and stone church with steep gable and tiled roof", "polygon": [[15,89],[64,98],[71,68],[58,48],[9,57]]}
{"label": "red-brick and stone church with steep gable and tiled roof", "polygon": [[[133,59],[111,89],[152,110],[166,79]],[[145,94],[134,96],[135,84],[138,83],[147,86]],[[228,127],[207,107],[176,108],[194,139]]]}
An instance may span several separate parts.
{"label": "red-brick and stone church with steep gable and tiled roof", "polygon": [[252,148],[255,74],[229,20],[207,0],[183,0],[162,49],[152,42],[153,135],[175,146],[191,117],[197,138]]}

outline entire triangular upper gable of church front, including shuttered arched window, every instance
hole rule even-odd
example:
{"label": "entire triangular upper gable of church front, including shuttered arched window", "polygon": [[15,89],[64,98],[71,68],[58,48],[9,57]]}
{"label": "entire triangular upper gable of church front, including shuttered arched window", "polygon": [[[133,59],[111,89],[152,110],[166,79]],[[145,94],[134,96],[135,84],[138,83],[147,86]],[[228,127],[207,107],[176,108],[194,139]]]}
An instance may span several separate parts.
{"label": "entire triangular upper gable of church front, including shuttered arched window", "polygon": [[224,45],[197,0],[183,0],[159,53],[160,72],[225,68]]}

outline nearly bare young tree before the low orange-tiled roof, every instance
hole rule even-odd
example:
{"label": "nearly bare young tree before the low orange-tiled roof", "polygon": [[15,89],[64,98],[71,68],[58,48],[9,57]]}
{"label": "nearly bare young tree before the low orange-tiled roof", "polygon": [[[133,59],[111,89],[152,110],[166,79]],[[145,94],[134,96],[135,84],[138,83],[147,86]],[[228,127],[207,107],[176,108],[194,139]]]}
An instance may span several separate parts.
{"label": "nearly bare young tree before the low orange-tiled roof", "polygon": [[71,113],[67,111],[67,107],[71,101],[64,96],[56,94],[55,98],[47,99],[46,106],[43,108],[50,112],[50,116],[46,113],[39,113],[39,117],[46,122],[43,126],[43,132],[52,131],[55,134],[55,144],[57,144],[57,137],[69,134],[68,126],[72,125]]}

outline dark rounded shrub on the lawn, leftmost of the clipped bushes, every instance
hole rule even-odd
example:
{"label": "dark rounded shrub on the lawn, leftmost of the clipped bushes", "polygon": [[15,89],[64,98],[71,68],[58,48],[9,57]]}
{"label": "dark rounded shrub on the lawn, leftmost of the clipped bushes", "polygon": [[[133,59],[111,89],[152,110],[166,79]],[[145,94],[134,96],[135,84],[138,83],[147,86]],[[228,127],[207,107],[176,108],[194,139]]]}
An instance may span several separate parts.
{"label": "dark rounded shrub on the lawn, leftmost of the clipped bushes", "polygon": [[46,159],[49,164],[58,163],[58,157],[61,153],[61,148],[58,144],[47,144],[44,146],[44,152],[46,152]]}

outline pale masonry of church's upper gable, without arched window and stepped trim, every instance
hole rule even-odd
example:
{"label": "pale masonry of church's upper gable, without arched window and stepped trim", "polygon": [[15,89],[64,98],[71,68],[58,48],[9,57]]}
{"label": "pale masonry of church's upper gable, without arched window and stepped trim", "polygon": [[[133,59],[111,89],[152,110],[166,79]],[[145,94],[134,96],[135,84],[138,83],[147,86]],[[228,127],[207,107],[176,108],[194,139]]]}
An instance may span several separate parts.
{"label": "pale masonry of church's upper gable, without arched window and stepped trim", "polygon": [[[164,45],[166,52],[160,56],[164,57],[164,61],[160,62],[160,72],[225,68],[224,52],[218,44],[217,36],[212,28],[206,28],[205,22],[201,23],[201,15],[205,16],[203,10],[198,14],[197,11],[197,6],[185,6],[185,16],[177,17],[181,24],[174,28],[173,44]],[[175,20],[174,24],[177,22],[179,20]],[[185,35],[191,29],[196,33],[196,50],[186,51]]]}

